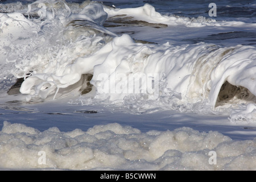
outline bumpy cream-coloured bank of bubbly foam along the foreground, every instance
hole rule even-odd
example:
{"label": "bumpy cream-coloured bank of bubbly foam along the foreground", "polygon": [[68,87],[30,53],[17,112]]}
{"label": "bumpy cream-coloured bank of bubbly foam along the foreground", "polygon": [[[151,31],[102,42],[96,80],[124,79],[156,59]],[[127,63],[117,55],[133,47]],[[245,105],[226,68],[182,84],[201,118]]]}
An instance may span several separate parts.
{"label": "bumpy cream-coloured bank of bubbly foam along the foreground", "polygon": [[255,140],[233,141],[189,127],[142,133],[110,123],[88,131],[52,127],[40,132],[5,121],[0,145],[2,169],[256,169]]}

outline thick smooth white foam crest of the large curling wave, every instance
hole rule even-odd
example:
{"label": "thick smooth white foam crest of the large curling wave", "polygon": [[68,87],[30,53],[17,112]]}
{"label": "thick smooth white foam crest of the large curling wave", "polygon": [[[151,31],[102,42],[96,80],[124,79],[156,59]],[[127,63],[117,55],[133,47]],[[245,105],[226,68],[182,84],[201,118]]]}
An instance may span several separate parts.
{"label": "thick smooth white foam crest of the large curling wave", "polygon": [[[42,99],[52,94],[61,96],[59,89],[75,86],[82,75],[90,73],[93,75],[90,83],[96,87],[95,98],[123,100],[130,94],[137,94],[134,88],[131,88],[129,93],[129,84],[133,83],[133,80],[129,80],[129,74],[142,73],[151,74],[151,81],[154,83],[158,81],[159,90],[155,90],[158,92],[144,92],[144,96],[149,99],[158,99],[169,93],[167,90],[173,90],[181,94],[181,102],[193,104],[209,100],[209,105],[214,108],[221,100],[219,93],[225,81],[250,90],[251,95],[244,98],[254,98],[255,86],[249,83],[249,80],[254,79],[250,74],[254,68],[254,54],[255,48],[249,46],[156,46],[135,43],[129,35],[122,35],[114,38],[94,54],[79,57],[71,64],[51,64],[53,67],[48,68],[48,73],[45,71],[43,74],[28,77],[23,82],[20,92]],[[52,70],[55,70],[55,73]],[[155,81],[152,78],[154,74],[157,74]],[[118,76],[122,79],[117,78]],[[160,88],[159,85],[163,87]],[[150,86],[152,88],[152,84]],[[142,86],[139,87],[138,94],[142,93],[141,89]],[[242,94],[239,99],[246,102]]]}

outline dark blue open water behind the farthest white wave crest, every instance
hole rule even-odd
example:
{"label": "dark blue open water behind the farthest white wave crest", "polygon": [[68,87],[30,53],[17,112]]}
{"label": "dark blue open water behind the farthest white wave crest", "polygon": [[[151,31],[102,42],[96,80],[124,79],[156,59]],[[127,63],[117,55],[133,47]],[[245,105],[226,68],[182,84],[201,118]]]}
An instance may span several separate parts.
{"label": "dark blue open water behind the farthest white wave crest", "polygon": [[[0,3],[13,3],[22,2],[31,3],[33,0],[0,0]],[[66,2],[82,3],[81,0],[67,0]],[[173,14],[178,16],[197,17],[205,16],[208,17],[210,3],[215,3],[217,6],[216,19],[232,19],[232,18],[253,18],[256,16],[256,1],[206,1],[206,0],[110,0],[110,1],[98,1],[107,6],[115,6],[117,8],[127,7],[139,7],[145,3],[149,3],[154,6],[156,11],[161,14]]]}

